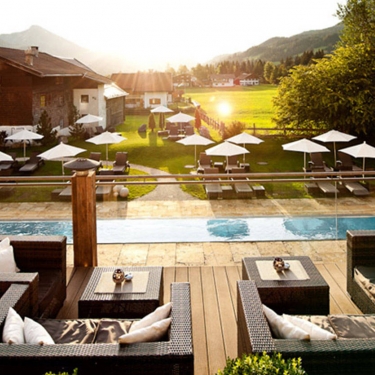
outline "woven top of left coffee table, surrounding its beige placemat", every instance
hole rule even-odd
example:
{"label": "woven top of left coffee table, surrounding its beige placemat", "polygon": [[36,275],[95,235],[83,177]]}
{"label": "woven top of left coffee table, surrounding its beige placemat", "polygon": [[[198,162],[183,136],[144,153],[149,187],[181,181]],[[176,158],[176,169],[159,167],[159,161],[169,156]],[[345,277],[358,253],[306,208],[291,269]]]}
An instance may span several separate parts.
{"label": "woven top of left coffee table, surrounding its beige placemat", "polygon": [[[121,268],[126,272],[148,271],[149,278],[146,293],[95,293],[102,273],[113,272]],[[80,301],[121,301],[121,300],[158,300],[162,283],[163,267],[96,267],[83,292]]]}

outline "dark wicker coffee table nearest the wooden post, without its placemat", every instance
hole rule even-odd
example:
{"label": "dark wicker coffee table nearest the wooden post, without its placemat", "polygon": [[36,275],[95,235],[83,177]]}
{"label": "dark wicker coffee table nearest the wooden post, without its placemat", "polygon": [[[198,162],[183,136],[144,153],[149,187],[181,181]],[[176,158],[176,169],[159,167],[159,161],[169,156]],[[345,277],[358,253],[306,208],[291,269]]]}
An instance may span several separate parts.
{"label": "dark wicker coffee table nearest the wooden post, without its placemat", "polygon": [[78,301],[80,318],[142,318],[163,303],[163,267],[122,267],[128,272],[149,272],[146,293],[95,293],[103,272],[118,267],[96,267]]}

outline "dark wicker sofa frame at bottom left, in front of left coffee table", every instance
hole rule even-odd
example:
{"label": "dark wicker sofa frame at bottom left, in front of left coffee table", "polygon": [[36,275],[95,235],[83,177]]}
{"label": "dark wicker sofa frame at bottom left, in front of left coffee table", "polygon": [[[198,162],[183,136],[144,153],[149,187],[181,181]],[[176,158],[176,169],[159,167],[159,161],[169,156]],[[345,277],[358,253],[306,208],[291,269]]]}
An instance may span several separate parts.
{"label": "dark wicker sofa frame at bottom left, in front of left coffee table", "polygon": [[[3,296],[4,297],[4,296]],[[24,301],[28,299],[23,298]],[[0,344],[0,373],[26,372],[41,375],[47,371],[68,371],[78,368],[80,375],[174,374],[194,373],[190,284],[171,284],[172,323],[166,341],[119,344]],[[0,329],[4,311],[17,302],[0,300]],[[7,305],[7,306],[5,306]]]}

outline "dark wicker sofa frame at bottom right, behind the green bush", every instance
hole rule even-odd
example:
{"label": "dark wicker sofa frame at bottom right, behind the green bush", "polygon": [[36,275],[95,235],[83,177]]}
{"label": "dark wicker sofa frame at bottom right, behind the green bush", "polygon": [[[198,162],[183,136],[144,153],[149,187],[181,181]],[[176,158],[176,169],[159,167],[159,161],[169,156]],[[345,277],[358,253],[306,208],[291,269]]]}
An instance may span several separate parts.
{"label": "dark wicker sofa frame at bottom right, behind the green bush", "polygon": [[302,358],[309,375],[375,373],[375,339],[289,340],[272,337],[262,303],[251,280],[237,283],[238,355],[280,352],[284,358]]}

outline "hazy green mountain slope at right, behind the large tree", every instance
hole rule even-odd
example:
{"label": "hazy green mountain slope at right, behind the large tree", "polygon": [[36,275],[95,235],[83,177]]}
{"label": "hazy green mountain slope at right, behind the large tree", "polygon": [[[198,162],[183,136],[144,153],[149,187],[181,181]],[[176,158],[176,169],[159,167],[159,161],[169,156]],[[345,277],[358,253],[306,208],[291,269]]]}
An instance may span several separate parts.
{"label": "hazy green mountain slope at right, behind the large tree", "polygon": [[324,50],[330,53],[339,41],[343,29],[342,23],[323,30],[305,31],[289,38],[274,37],[258,46],[244,52],[216,56],[209,63],[215,64],[223,60],[242,61],[257,60],[279,62],[291,56],[297,56],[304,51]]}

